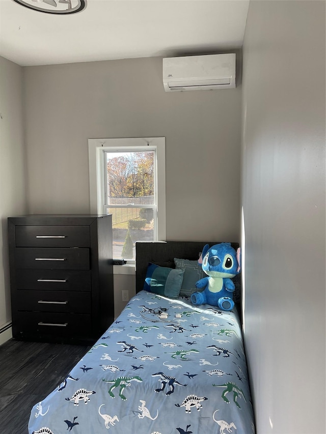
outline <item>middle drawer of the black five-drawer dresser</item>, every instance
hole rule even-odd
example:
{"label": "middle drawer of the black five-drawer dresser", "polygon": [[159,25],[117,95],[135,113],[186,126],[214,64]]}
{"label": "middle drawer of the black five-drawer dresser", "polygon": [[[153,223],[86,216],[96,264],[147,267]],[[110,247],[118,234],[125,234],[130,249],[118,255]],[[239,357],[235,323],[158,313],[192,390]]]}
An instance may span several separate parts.
{"label": "middle drawer of the black five-drawer dresser", "polygon": [[91,271],[20,269],[16,287],[18,290],[91,291]]}

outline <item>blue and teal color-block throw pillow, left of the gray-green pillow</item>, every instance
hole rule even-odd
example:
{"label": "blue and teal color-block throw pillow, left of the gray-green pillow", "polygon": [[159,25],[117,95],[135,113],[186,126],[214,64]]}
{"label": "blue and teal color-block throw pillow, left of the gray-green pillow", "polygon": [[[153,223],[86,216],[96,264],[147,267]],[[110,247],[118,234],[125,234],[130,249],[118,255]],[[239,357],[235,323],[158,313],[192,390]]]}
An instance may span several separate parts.
{"label": "blue and teal color-block throw pillow, left of the gray-green pillow", "polygon": [[169,298],[179,297],[183,270],[148,264],[144,290]]}

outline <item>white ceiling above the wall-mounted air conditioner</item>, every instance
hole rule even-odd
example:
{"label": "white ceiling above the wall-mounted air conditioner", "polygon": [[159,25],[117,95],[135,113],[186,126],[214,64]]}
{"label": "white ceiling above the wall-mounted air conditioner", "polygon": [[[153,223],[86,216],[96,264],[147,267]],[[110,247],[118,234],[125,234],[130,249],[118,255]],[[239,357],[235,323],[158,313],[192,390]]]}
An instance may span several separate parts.
{"label": "white ceiling above the wall-mounted air conditioner", "polygon": [[87,0],[82,12],[53,15],[0,0],[0,55],[31,66],[218,53],[242,46],[248,6],[249,0]]}

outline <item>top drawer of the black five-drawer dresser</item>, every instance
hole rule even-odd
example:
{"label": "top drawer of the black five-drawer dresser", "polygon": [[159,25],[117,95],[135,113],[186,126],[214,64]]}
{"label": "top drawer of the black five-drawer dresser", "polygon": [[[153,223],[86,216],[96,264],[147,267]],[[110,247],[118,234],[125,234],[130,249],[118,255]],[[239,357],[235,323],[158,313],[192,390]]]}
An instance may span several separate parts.
{"label": "top drawer of the black five-drawer dresser", "polygon": [[16,226],[17,247],[90,247],[89,226]]}

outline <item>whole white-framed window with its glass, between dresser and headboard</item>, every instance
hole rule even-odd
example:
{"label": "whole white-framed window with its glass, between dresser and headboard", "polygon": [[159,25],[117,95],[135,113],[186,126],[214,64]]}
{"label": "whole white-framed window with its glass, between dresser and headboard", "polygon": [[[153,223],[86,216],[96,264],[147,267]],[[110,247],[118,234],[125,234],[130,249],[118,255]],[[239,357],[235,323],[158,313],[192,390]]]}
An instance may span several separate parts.
{"label": "whole white-framed window with its glass, between dresser and headboard", "polygon": [[89,139],[91,212],[112,214],[113,256],[165,240],[165,137]]}

